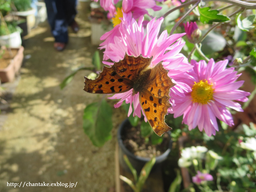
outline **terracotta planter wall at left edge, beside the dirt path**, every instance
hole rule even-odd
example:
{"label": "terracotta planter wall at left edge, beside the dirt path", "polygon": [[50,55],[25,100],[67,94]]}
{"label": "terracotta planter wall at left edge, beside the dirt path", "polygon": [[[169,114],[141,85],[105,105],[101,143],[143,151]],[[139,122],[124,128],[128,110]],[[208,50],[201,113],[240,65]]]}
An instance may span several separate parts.
{"label": "terracotta planter wall at left edge, beside the dirt path", "polygon": [[21,46],[10,64],[5,69],[0,69],[0,79],[2,83],[12,82],[15,79],[15,74],[20,70],[23,61],[23,51],[24,47]]}

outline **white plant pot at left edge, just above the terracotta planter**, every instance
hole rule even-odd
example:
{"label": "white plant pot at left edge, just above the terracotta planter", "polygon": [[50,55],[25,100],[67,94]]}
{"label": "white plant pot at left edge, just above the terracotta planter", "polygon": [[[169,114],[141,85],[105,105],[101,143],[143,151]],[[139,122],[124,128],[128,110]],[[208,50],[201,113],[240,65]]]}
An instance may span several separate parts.
{"label": "white plant pot at left edge, just above the terracotta planter", "polygon": [[11,33],[10,35],[2,35],[0,36],[0,45],[8,46],[12,48],[20,48],[21,46],[21,38],[20,32],[16,31]]}

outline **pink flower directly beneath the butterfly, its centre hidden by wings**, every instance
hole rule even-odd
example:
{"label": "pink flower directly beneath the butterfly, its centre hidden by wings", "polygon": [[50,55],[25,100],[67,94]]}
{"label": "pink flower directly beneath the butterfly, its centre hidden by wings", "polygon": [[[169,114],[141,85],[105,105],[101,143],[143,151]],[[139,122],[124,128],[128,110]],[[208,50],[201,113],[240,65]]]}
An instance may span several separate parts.
{"label": "pink flower directly beneath the butterfly, its centre hidden by wings", "polygon": [[[158,37],[162,22],[162,17],[157,20],[152,19],[148,22],[146,29],[147,33],[144,35],[144,28],[142,24],[143,16],[139,18],[138,22],[134,18],[131,18],[130,20],[122,20],[118,31],[116,31],[116,34],[119,33],[119,35],[113,36],[113,40],[108,41],[108,47],[104,52],[104,59],[111,59],[112,61],[117,62],[124,58],[125,52],[127,52],[128,55],[134,55],[135,57],[140,54],[142,54],[143,57],[153,56],[151,67],[154,67],[154,65],[163,61],[163,66],[167,70],[170,70],[168,75],[173,79],[175,79],[179,74],[191,69],[192,66],[189,65],[187,59],[179,53],[184,45],[184,43],[181,43],[180,39],[184,33],[174,34],[168,37],[167,31],[163,31]],[[103,44],[105,44],[105,42]],[[107,65],[113,64],[106,61],[103,61],[103,63]],[[181,84],[179,82],[176,83],[177,85],[173,87],[173,90],[174,92],[179,92],[180,96],[183,96],[183,92],[190,88],[183,82],[181,82]],[[183,87],[183,85],[185,87]],[[132,96],[131,93],[132,90],[125,93],[118,93],[110,97],[110,99],[121,99],[115,105],[117,108],[122,105],[123,99],[126,98],[125,102],[130,103],[128,116],[130,116],[132,112],[133,103],[135,109],[133,115],[140,117],[141,107],[139,94],[137,93],[135,96]]]}

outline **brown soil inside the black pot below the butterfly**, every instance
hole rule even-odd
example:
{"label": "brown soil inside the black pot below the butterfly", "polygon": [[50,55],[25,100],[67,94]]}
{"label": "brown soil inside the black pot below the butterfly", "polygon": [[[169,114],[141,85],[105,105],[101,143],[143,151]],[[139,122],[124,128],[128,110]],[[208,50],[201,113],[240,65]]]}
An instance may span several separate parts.
{"label": "brown soil inside the black pot below the butterfly", "polygon": [[145,138],[141,137],[140,126],[126,126],[122,134],[122,140],[125,147],[134,155],[152,158],[153,156],[160,156],[168,149],[170,139],[168,134],[164,134],[163,142],[153,145],[151,140],[146,142]]}

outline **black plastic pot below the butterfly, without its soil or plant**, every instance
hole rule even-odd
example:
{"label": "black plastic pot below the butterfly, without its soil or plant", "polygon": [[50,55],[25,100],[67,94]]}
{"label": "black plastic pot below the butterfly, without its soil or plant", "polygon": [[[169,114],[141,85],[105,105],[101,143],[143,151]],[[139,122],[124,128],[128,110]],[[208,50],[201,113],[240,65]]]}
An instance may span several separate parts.
{"label": "black plastic pot below the butterfly, without its soil or plant", "polygon": [[[120,165],[126,170],[130,172],[130,169],[126,165],[123,155],[126,154],[128,159],[130,160],[132,166],[136,169],[137,173],[139,174],[145,163],[147,163],[150,158],[145,158],[145,157],[139,157],[134,155],[131,151],[128,151],[128,149],[125,147],[125,145],[122,142],[122,135],[124,134],[125,128],[131,126],[130,122],[128,119],[125,119],[122,124],[119,127],[119,130],[117,132],[117,139],[118,139],[118,144],[119,144],[119,163]],[[171,148],[172,148],[172,140],[171,140],[171,135],[169,133],[169,146],[168,149],[161,154],[160,156],[156,157],[156,163],[154,164],[154,167],[151,170],[152,172],[157,172],[161,171],[161,166],[163,162],[167,159],[167,156],[169,155]]]}

